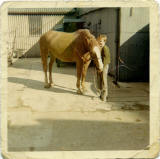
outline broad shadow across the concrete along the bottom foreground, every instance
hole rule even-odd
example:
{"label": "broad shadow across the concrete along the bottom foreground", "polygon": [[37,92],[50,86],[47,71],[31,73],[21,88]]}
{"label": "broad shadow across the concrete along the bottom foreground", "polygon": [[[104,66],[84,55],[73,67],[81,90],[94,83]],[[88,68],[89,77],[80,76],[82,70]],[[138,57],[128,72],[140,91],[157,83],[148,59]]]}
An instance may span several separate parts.
{"label": "broad shadow across the concrete along the bottom foreground", "polygon": [[8,128],[8,151],[140,150],[148,144],[148,123],[43,119]]}

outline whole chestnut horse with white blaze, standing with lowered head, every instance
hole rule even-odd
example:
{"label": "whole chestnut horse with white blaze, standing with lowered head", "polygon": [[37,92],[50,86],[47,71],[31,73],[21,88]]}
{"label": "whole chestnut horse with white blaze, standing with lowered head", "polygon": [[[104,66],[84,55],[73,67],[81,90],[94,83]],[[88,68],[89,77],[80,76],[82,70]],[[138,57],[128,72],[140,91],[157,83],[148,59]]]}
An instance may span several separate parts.
{"label": "whole chestnut horse with white blaze, standing with lowered head", "polygon": [[[88,29],[79,29],[72,33],[50,30],[40,37],[39,44],[45,74],[45,88],[50,88],[54,85],[52,81],[52,65],[56,58],[63,62],[76,63],[78,94],[84,94],[87,91],[85,78],[91,60],[93,60],[99,72],[103,71],[99,44]],[[48,55],[50,55],[49,82],[47,77]]]}

